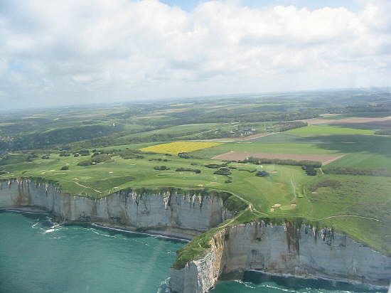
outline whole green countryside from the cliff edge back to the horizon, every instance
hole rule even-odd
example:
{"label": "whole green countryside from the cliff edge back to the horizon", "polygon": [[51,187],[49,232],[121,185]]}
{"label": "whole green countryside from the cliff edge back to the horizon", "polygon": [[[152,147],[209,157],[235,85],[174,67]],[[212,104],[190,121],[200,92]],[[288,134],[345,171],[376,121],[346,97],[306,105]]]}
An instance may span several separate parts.
{"label": "whole green countryside from the cliff edge back to the horizon", "polygon": [[[4,114],[0,179],[39,177],[55,181],[63,192],[95,198],[129,187],[227,191],[251,205],[235,223],[304,218],[391,254],[391,177],[322,171],[390,170],[391,137],[375,131],[377,123],[387,125],[391,111],[375,120],[368,118],[370,113],[352,117],[355,100],[334,95],[325,94],[324,100],[304,93],[205,98]],[[231,161],[252,154],[329,164],[309,176],[301,166]],[[268,176],[256,176],[259,172]]]}

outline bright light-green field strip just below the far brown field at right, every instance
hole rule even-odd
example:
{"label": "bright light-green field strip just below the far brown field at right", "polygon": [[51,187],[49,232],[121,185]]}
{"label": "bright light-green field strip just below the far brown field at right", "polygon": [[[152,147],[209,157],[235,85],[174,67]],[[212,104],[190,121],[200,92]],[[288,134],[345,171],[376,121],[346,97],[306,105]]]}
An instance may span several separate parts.
{"label": "bright light-green field strip just below the far brown field at right", "polygon": [[300,135],[333,135],[333,134],[374,134],[374,130],[368,129],[355,129],[345,127],[334,127],[327,125],[309,125],[306,127],[291,129],[285,132],[287,134],[300,134]]}

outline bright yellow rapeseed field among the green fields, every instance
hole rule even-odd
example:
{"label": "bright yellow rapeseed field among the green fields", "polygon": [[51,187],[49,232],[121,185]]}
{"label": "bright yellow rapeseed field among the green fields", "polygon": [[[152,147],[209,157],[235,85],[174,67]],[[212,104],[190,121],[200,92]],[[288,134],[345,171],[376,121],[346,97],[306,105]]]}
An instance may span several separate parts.
{"label": "bright yellow rapeseed field among the green fields", "polygon": [[179,154],[190,153],[198,149],[206,149],[212,146],[218,146],[218,142],[170,142],[168,144],[156,144],[156,146],[147,146],[141,151],[153,151],[159,154]]}

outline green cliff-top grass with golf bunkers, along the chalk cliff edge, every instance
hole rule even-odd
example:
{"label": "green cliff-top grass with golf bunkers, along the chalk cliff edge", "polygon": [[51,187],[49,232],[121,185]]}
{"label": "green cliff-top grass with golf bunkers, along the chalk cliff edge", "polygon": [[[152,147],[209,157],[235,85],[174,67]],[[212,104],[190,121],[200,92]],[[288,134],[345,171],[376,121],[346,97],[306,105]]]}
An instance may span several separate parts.
{"label": "green cliff-top grass with golf bunkers, along the chalk cliff edge", "polygon": [[[107,161],[78,166],[80,161],[93,158],[53,153],[48,154],[48,159],[42,159],[43,155],[36,154],[31,162],[1,166],[4,174],[0,179],[39,178],[56,182],[64,193],[92,198],[130,188],[139,192],[166,191],[166,188],[181,188],[183,193],[199,191],[210,195],[215,192],[215,195],[225,194],[225,206],[231,211],[251,206],[235,223],[258,218],[306,218],[332,225],[378,251],[391,251],[388,229],[391,217],[387,208],[391,179],[387,177],[333,175],[321,171],[317,176],[307,176],[299,166],[237,162],[226,163],[231,174],[224,176],[214,174],[216,169],[207,166],[225,163],[211,159],[148,153],[134,153],[129,156],[132,159],[123,159],[110,154]],[[154,169],[162,165],[167,169]],[[68,166],[68,170],[61,170],[63,166]],[[178,168],[199,169],[200,173],[176,171]],[[257,171],[267,171],[270,176],[255,176]],[[328,186],[327,182],[335,181],[339,184]]]}

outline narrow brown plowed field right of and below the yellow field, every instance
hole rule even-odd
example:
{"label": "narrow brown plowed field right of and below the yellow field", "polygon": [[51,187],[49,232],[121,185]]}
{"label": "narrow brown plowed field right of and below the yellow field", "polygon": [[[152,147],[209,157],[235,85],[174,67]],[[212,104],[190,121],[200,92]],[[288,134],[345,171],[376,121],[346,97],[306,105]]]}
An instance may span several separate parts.
{"label": "narrow brown plowed field right of and below the yellow field", "polygon": [[259,159],[280,159],[280,160],[295,160],[295,161],[321,161],[323,165],[330,164],[343,157],[343,155],[325,155],[325,154],[269,154],[269,153],[250,153],[247,151],[237,152],[232,151],[226,154],[219,154],[212,159],[240,161],[249,158],[250,156]]}

